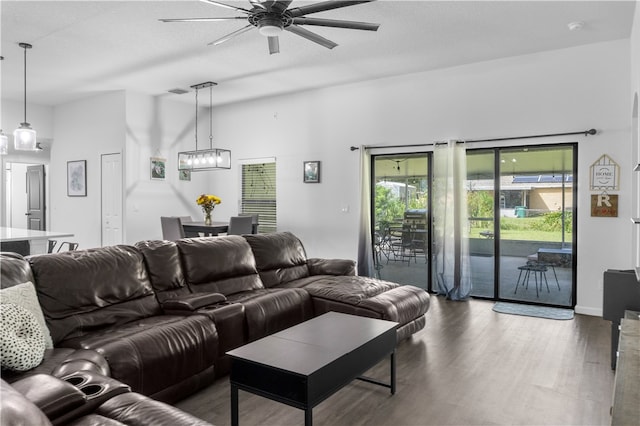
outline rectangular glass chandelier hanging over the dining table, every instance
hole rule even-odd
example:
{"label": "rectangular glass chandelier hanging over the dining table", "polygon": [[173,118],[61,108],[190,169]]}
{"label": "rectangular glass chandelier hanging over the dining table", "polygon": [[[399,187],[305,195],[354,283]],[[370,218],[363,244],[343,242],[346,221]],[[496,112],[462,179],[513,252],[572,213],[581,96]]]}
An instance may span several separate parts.
{"label": "rectangular glass chandelier hanging over the dining table", "polygon": [[[204,170],[220,170],[231,168],[231,151],[213,148],[213,95],[212,88],[216,83],[208,81],[191,86],[196,90],[196,150],[178,153],[178,170],[193,172]],[[198,149],[198,91],[209,88],[209,149]]]}

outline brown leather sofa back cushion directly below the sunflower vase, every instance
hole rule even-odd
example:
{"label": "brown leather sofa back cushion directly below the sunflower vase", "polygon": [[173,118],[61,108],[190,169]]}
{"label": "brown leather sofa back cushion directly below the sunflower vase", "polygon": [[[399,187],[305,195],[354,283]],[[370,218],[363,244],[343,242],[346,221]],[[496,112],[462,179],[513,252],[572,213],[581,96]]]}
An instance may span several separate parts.
{"label": "brown leather sofa back cushion directly below the sunflower vase", "polygon": [[185,279],[194,293],[225,296],[264,288],[251,247],[244,238],[184,238],[176,241]]}

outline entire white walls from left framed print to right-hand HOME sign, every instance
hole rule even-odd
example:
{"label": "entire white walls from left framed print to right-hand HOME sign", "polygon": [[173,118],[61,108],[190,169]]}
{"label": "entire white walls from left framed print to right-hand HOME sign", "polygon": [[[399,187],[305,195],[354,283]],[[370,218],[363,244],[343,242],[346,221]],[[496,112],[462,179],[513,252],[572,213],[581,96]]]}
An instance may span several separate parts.
{"label": "entire white walls from left framed print to right-hand HOME sign", "polygon": [[[223,199],[214,216],[235,214],[237,160],[276,157],[279,229],[300,236],[311,257],[353,259],[360,176],[349,146],[595,127],[595,137],[540,142],[579,143],[577,311],[598,315],[603,271],[630,267],[630,48],[629,40],[614,41],[216,108],[214,145],[232,150],[233,168],[194,173],[191,182],[177,180],[175,161],[178,151],[194,148],[192,107],[120,92],[61,105],[51,153],[52,229],[72,229],[84,248],[100,244],[102,153],[125,151],[130,243],[159,238],[160,215],[198,217],[202,192]],[[637,54],[633,63],[637,73]],[[201,141],[207,130],[201,119]],[[591,218],[588,170],[605,153],[621,165],[620,217]],[[165,181],[148,178],[148,158],[156,155],[168,159]],[[88,197],[69,198],[66,162],[78,159],[88,160]],[[322,161],[322,183],[302,183],[304,160]]]}

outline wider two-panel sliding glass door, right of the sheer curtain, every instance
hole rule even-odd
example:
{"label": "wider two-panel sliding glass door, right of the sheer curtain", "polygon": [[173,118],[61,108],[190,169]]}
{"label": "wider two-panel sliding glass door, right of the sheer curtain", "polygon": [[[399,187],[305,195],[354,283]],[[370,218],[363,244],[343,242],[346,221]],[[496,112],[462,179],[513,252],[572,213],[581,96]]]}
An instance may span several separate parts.
{"label": "wider two-panel sliding glass door, right of the sheer curtain", "polygon": [[467,152],[472,296],[574,305],[575,157],[573,145]]}

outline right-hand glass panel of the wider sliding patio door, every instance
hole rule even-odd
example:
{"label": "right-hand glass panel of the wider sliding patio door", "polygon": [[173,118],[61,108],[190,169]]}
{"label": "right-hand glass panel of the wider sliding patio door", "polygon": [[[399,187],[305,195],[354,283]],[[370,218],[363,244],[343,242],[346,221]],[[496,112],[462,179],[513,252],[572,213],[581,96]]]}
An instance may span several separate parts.
{"label": "right-hand glass panel of the wider sliding patio door", "polygon": [[574,146],[502,149],[501,299],[573,306]]}

